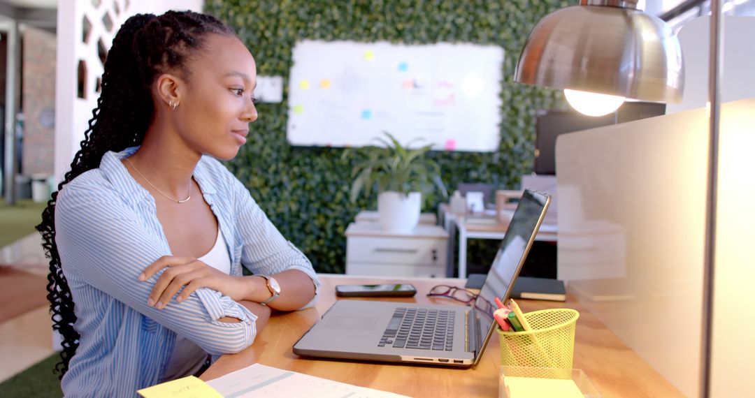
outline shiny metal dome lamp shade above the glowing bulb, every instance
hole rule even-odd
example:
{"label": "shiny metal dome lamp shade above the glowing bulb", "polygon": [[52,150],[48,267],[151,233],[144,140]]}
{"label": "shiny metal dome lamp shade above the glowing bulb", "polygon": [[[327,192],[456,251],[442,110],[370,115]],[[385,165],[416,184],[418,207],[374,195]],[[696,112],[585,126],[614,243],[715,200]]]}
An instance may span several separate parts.
{"label": "shiny metal dome lamp shade above the glowing bulb", "polygon": [[637,10],[634,3],[582,0],[548,14],[529,35],[514,80],[680,102],[684,68],[679,39],[663,20]]}

